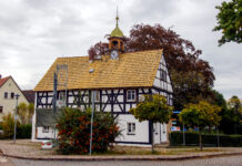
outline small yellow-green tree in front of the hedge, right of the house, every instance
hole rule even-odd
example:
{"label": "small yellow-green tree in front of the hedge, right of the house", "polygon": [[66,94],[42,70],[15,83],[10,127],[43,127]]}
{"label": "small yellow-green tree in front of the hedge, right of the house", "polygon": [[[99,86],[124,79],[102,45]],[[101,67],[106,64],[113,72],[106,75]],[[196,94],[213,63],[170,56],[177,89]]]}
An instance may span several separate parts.
{"label": "small yellow-green tree in front of the hedge, right of the house", "polygon": [[199,144],[202,151],[202,129],[206,126],[218,126],[221,116],[219,112],[221,107],[211,105],[208,102],[200,102],[199,104],[189,104],[179,114],[179,120],[188,126],[199,127]]}

